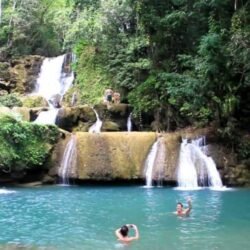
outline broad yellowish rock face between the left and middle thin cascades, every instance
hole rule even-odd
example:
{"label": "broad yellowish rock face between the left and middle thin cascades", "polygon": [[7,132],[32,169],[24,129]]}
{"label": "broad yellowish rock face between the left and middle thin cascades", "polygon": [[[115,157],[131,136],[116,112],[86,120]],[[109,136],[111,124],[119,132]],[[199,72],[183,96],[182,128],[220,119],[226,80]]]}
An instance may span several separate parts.
{"label": "broad yellowish rock face between the left and middle thin cascades", "polygon": [[[79,180],[132,180],[144,178],[144,161],[155,133],[77,132],[77,161],[73,178]],[[62,141],[58,148],[65,147]],[[54,162],[62,159],[54,155]],[[59,159],[60,158],[60,159]]]}

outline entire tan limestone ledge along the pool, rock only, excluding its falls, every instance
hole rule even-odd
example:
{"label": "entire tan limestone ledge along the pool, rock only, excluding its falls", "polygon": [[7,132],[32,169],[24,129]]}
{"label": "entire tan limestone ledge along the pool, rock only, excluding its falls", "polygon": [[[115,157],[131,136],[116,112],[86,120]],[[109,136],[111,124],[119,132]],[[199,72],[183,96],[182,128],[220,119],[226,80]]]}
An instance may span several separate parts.
{"label": "entire tan limestone ledge along the pool, rock only, excluding its falls", "polygon": [[[223,145],[215,141],[213,131],[198,129],[181,130],[174,133],[153,132],[101,132],[90,134],[75,132],[76,166],[69,178],[81,181],[143,180],[145,161],[153,143],[158,140],[158,151],[152,178],[155,181],[174,184],[177,182],[177,167],[182,138],[197,139],[206,136],[207,148],[214,159],[224,185],[250,186],[250,159],[236,164]],[[53,153],[50,175],[57,175],[70,134],[58,143]]]}

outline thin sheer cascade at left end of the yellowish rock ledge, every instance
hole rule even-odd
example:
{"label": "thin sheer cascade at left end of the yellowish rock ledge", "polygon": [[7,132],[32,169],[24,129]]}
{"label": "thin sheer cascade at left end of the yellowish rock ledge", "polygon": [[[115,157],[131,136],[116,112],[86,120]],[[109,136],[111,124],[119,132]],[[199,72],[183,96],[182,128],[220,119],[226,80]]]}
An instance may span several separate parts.
{"label": "thin sheer cascade at left end of the yellowish rock ledge", "polygon": [[74,170],[76,166],[76,152],[76,136],[71,135],[71,138],[65,147],[60,168],[58,170],[58,175],[64,185],[69,185],[70,171]]}

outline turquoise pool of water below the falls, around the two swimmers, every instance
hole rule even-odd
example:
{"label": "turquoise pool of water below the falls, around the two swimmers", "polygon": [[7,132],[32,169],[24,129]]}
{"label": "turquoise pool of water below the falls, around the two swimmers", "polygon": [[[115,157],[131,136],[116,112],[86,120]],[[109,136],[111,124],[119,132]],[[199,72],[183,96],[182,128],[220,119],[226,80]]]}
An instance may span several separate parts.
{"label": "turquoise pool of water below the falls, around the two swimmers", "polygon": [[[248,250],[250,189],[53,186],[0,192],[0,249]],[[191,196],[188,218],[171,212]],[[129,246],[114,231],[137,224]]]}

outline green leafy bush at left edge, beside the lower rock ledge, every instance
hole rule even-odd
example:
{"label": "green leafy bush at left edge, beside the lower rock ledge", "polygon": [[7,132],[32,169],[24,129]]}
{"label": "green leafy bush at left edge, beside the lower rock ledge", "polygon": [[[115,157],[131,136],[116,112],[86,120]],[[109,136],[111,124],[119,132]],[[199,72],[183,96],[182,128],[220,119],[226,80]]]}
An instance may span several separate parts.
{"label": "green leafy bush at left edge, beside the lower rock ledge", "polygon": [[0,124],[0,168],[3,170],[41,167],[59,138],[55,126],[20,122],[11,116],[1,116]]}

